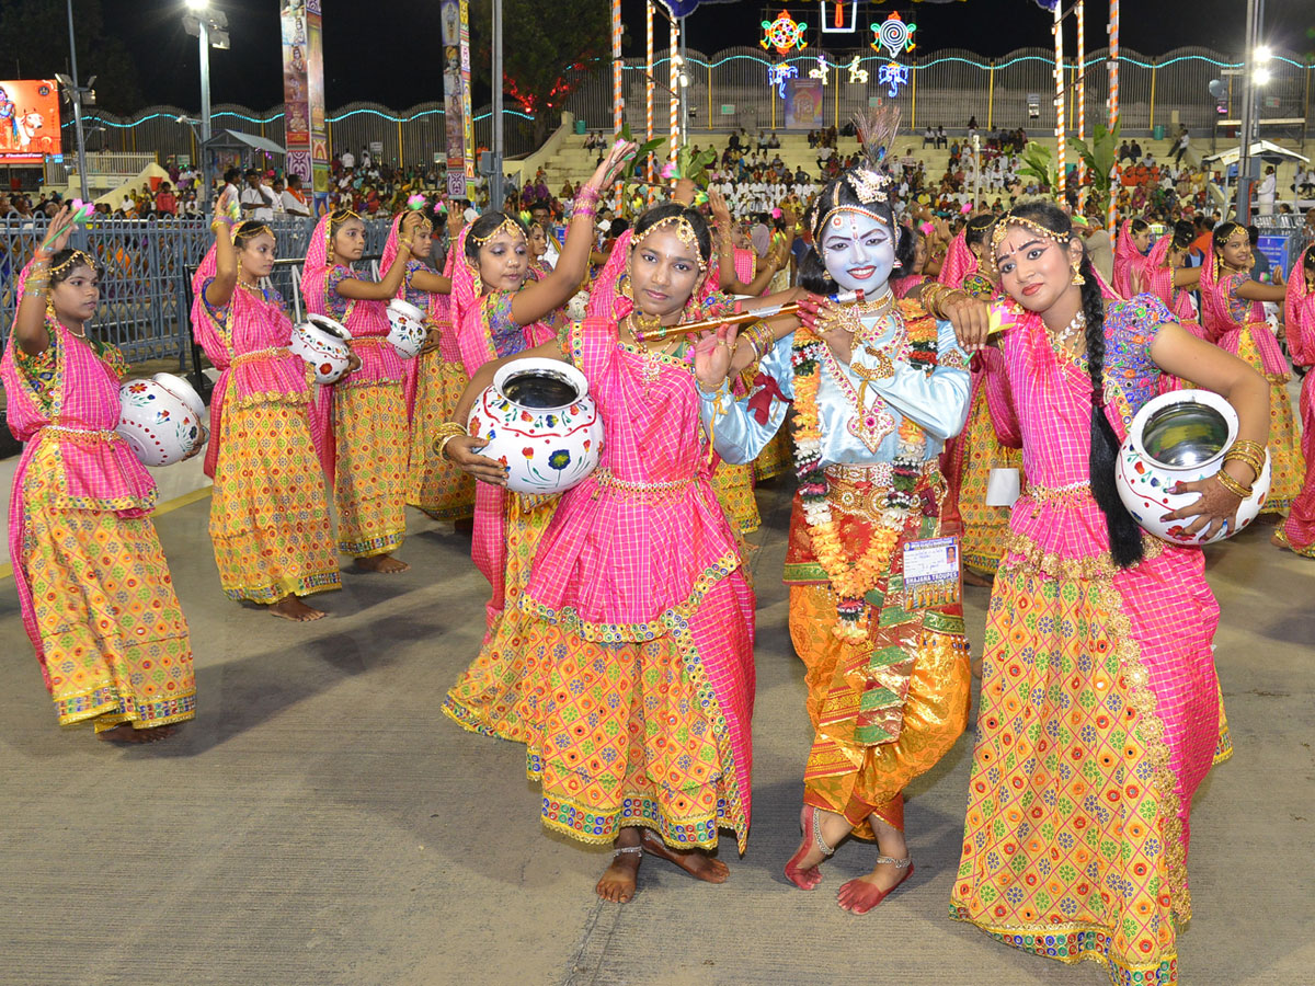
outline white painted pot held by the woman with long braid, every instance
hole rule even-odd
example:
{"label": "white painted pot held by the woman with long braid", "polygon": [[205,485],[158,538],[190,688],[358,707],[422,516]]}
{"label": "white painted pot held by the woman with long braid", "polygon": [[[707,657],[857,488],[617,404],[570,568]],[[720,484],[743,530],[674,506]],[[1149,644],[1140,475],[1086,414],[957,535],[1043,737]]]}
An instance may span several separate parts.
{"label": "white painted pot held by the woman with long braid", "polygon": [[1180,546],[1210,544],[1231,538],[1256,519],[1269,497],[1269,452],[1252,493],[1237,507],[1236,527],[1211,538],[1187,534],[1191,518],[1161,521],[1166,513],[1195,502],[1199,493],[1170,493],[1177,482],[1214,476],[1237,438],[1237,413],[1210,390],[1176,390],[1147,402],[1132,419],[1114,467],[1119,498],[1141,527]]}

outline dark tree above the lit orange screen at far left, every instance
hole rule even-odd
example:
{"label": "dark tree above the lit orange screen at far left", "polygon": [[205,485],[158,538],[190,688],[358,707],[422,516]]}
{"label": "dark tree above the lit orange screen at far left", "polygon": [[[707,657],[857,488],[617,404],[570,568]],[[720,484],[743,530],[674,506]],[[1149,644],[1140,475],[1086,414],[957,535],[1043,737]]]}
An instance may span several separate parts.
{"label": "dark tree above the lit orange screen at far left", "polygon": [[[79,82],[96,76],[97,105],[112,113],[141,109],[142,93],[128,49],[105,33],[100,0],[74,0]],[[68,16],[59,0],[0,0],[0,76],[49,79],[68,71]]]}

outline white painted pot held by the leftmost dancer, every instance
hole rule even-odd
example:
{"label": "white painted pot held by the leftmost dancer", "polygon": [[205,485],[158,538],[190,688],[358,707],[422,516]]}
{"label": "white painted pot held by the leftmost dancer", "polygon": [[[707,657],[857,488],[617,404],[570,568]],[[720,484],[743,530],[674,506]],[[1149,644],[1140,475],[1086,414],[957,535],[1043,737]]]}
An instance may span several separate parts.
{"label": "white painted pot held by the leftmost dancer", "polygon": [[172,465],[195,454],[209,433],[205,404],[183,377],[156,373],[118,388],[118,427],[114,429],[143,465]]}

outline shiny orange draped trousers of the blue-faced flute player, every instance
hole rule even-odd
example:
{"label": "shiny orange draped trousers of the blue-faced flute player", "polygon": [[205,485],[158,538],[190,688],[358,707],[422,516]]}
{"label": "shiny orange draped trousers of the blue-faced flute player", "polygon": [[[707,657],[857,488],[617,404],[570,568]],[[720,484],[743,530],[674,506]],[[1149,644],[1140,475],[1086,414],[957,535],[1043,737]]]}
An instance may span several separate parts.
{"label": "shiny orange draped trousers of the blue-faced flute player", "polygon": [[[864,744],[848,734],[860,716],[873,639],[849,642],[831,632],[836,597],[826,585],[790,586],[790,638],[806,668],[814,739],[803,776],[803,802],[844,815],[860,839],[872,839],[871,815],[903,830],[903,789],[955,745],[968,722],[970,672],[961,617],[932,610],[905,627],[896,644],[915,655],[898,738]],[[826,722],[823,722],[826,720]],[[844,723],[840,726],[840,723]]]}

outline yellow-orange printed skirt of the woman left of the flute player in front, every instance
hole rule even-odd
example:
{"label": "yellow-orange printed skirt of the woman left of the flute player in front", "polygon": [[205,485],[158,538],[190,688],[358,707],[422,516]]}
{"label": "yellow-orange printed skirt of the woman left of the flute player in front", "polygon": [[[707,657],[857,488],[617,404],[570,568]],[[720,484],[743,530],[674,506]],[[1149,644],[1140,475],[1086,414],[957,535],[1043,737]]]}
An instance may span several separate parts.
{"label": "yellow-orange printed skirt of the woman left of the flute player in front", "polygon": [[546,828],[609,844],[643,827],[677,849],[711,849],[727,828],[744,852],[753,594],[740,571],[644,624],[537,615],[525,647],[526,770]]}

